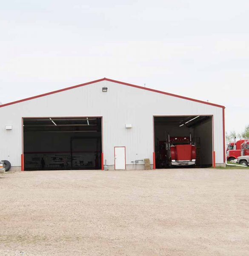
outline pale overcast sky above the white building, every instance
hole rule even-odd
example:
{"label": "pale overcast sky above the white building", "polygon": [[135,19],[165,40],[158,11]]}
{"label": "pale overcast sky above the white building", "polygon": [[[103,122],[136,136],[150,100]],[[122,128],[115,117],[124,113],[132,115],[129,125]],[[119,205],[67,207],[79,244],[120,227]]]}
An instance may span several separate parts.
{"label": "pale overcast sky above the white building", "polygon": [[107,77],[249,124],[248,0],[0,0],[0,102]]}

